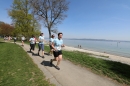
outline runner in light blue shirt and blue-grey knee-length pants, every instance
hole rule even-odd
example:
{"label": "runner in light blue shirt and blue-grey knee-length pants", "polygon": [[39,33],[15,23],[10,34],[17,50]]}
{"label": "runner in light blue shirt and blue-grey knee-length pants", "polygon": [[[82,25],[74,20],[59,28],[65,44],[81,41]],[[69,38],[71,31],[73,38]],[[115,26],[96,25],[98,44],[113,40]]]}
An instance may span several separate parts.
{"label": "runner in light blue shirt and blue-grey knee-length pants", "polygon": [[44,58],[44,36],[43,36],[43,33],[40,34],[38,41],[39,41],[39,43],[38,43],[38,47],[39,47],[38,55],[40,56],[40,50],[42,50],[42,58]]}

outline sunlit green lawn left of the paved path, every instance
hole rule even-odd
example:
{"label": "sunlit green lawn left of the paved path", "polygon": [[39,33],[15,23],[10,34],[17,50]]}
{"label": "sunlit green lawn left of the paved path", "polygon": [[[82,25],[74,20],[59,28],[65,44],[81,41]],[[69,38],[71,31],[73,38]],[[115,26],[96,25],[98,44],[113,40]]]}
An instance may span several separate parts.
{"label": "sunlit green lawn left of the paved path", "polygon": [[22,47],[0,42],[0,86],[53,86]]}

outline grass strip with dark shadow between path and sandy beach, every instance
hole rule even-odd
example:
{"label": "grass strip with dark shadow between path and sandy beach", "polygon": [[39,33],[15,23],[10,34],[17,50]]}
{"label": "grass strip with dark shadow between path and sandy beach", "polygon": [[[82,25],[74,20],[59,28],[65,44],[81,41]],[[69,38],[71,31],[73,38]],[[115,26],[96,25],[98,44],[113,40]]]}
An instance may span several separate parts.
{"label": "grass strip with dark shadow between path and sandy beach", "polygon": [[[49,46],[45,46],[45,51],[49,51]],[[90,68],[93,72],[112,78],[119,83],[130,85],[130,65],[95,58],[88,53],[78,51],[63,50],[63,58]]]}

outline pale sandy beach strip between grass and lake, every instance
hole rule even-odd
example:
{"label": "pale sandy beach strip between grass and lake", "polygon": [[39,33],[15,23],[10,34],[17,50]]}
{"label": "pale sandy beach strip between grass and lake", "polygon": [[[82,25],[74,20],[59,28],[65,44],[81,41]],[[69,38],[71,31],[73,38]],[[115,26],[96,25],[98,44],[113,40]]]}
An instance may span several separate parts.
{"label": "pale sandy beach strip between grass and lake", "polygon": [[67,50],[67,51],[80,51],[80,52],[90,53],[90,54],[93,54],[94,56],[96,56],[96,55],[106,56],[108,58],[105,58],[105,57],[102,57],[102,58],[106,59],[106,60],[117,61],[117,62],[121,62],[121,63],[130,65],[130,58],[125,57],[125,56],[119,56],[119,55],[103,53],[103,52],[98,52],[98,51],[94,51],[94,50],[87,50],[87,49],[82,49],[82,48],[80,49],[80,48],[71,47],[71,46],[65,46],[62,49]]}

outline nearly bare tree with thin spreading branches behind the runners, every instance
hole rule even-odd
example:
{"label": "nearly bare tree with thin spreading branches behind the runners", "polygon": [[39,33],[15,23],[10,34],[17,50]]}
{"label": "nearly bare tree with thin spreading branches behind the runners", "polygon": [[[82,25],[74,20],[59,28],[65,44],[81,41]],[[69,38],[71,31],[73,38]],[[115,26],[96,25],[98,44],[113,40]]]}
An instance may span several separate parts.
{"label": "nearly bare tree with thin spreading branches behind the runners", "polygon": [[29,0],[29,3],[35,15],[43,20],[51,37],[51,31],[57,32],[53,28],[67,17],[65,12],[68,10],[69,2],[66,0]]}

